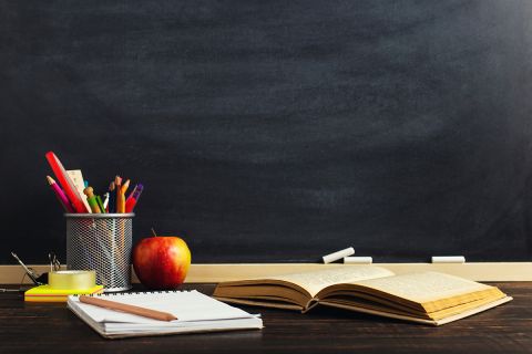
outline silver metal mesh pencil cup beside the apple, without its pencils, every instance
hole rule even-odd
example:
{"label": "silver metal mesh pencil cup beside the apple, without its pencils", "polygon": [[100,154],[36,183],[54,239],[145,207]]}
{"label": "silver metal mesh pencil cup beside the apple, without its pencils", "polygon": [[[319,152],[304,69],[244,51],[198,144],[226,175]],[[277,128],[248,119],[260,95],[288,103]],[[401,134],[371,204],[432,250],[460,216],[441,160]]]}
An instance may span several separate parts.
{"label": "silver metal mesh pencil cup beside the apple, without its pencils", "polygon": [[131,214],[65,214],[66,267],[95,270],[105,292],[131,289]]}

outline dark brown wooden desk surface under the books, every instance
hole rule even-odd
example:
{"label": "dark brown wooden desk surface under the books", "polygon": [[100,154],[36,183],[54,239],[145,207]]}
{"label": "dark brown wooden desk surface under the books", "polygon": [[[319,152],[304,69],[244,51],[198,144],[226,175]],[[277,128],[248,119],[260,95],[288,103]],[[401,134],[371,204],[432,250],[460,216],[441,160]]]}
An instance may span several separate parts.
{"label": "dark brown wooden desk surface under the books", "polygon": [[[262,331],[104,340],[64,304],[0,293],[0,353],[532,353],[532,282],[497,283],[514,301],[441,327],[317,308],[262,313]],[[190,284],[211,294],[213,284]]]}

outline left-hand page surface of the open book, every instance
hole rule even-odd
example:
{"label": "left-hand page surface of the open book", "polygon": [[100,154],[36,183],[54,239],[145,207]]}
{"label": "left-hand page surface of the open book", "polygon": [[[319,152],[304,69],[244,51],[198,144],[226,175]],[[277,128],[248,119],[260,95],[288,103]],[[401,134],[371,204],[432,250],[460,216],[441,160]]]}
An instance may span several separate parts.
{"label": "left-hand page surface of the open book", "polygon": [[329,285],[390,275],[393,275],[391,271],[376,266],[347,266],[315,272],[270,277],[269,279],[295,283],[307,290],[314,298],[321,289]]}

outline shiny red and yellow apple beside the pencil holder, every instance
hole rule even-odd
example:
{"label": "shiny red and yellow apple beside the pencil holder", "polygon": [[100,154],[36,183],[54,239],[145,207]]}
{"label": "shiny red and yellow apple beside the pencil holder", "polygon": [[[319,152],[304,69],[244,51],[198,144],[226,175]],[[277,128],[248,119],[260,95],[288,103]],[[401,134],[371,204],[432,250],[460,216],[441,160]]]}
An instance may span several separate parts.
{"label": "shiny red and yellow apple beside the pencil holder", "polygon": [[178,237],[149,237],[133,249],[133,268],[149,289],[175,289],[185,281],[191,251]]}

